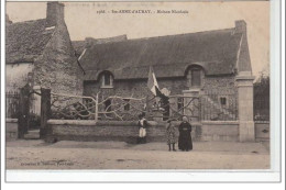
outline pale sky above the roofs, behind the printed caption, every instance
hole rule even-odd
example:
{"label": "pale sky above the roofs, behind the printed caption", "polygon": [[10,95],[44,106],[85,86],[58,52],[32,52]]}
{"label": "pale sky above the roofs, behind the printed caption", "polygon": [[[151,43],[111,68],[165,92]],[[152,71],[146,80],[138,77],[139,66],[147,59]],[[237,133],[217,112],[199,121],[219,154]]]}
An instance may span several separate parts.
{"label": "pale sky above the roofs, behind the printed caption", "polygon": [[[128,38],[173,35],[234,27],[245,20],[252,71],[267,74],[270,67],[270,2],[63,2],[72,41],[127,34]],[[99,14],[105,10],[106,13]],[[151,10],[143,13],[111,13],[112,10]],[[182,10],[188,13],[156,13]],[[44,19],[45,2],[7,2],[12,22]]]}

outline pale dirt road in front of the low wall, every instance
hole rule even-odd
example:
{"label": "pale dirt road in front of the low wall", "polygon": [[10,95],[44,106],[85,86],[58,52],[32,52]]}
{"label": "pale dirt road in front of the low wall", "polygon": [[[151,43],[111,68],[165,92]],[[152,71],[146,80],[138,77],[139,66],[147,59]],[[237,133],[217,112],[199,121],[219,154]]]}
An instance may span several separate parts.
{"label": "pale dirt road in front of the low wall", "polygon": [[191,152],[168,152],[165,143],[12,141],[7,169],[270,169],[270,146],[194,142]]}

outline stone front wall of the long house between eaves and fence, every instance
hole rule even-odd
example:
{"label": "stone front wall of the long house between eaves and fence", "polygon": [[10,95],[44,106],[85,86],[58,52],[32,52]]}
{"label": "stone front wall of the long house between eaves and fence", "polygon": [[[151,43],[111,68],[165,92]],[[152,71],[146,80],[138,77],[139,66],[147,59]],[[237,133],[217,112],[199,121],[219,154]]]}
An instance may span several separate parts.
{"label": "stone front wall of the long house between eaves and fence", "polygon": [[[157,79],[161,89],[167,88],[170,94],[183,94],[183,90],[187,90],[186,78],[169,78],[169,79]],[[120,96],[143,98],[152,96],[147,88],[147,79],[136,80],[116,80],[113,81],[113,88],[102,89],[100,88],[100,80],[97,81],[85,81],[84,94],[96,97],[98,92],[102,97]],[[221,77],[206,77],[202,90],[213,90],[221,93],[227,91],[235,92],[234,76],[221,76]]]}

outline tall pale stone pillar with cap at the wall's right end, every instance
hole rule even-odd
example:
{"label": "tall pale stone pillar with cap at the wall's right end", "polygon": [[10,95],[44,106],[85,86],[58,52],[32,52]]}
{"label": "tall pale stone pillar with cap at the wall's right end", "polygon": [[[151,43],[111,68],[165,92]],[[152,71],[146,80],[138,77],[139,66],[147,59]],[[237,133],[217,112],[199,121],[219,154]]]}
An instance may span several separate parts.
{"label": "tall pale stone pillar with cap at the wall's right end", "polygon": [[240,74],[237,78],[239,104],[239,139],[254,142],[255,130],[253,121],[253,80],[251,74]]}

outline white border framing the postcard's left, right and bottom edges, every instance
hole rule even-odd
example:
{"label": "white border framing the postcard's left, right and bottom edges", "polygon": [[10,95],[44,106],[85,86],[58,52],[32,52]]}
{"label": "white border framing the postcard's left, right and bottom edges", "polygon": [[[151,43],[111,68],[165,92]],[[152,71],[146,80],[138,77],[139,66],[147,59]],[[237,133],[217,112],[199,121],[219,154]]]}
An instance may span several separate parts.
{"label": "white border framing the postcard's left, right and bottom edges", "polygon": [[[6,12],[6,5],[3,3],[3,0],[1,0],[1,49],[4,49],[4,12]],[[271,11],[272,11],[272,18],[271,18],[271,90],[272,90],[272,105],[271,105],[271,163],[272,163],[272,169],[270,170],[242,170],[241,172],[231,170],[231,172],[223,170],[222,172],[215,171],[215,170],[204,170],[201,172],[169,172],[169,170],[164,171],[160,170],[156,172],[133,172],[133,171],[127,171],[122,172],[122,170],[118,171],[92,171],[92,170],[65,170],[65,171],[54,171],[54,170],[45,170],[45,171],[16,171],[16,170],[9,170],[7,171],[7,180],[9,181],[81,181],[81,182],[96,182],[96,181],[189,181],[189,182],[201,182],[201,181],[245,181],[245,182],[277,182],[280,179],[280,153],[279,153],[279,145],[280,145],[280,135],[283,135],[282,142],[283,145],[285,145],[285,119],[283,118],[282,123],[282,131],[279,121],[280,121],[280,114],[279,114],[279,108],[280,105],[285,105],[285,101],[278,98],[280,93],[280,70],[283,72],[285,71],[285,58],[282,60],[282,68],[280,68],[280,52],[279,52],[279,43],[280,35],[279,35],[279,27],[280,23],[278,22],[279,13],[280,13],[280,1],[279,0],[272,0],[271,2]],[[285,8],[285,1],[283,1],[283,8]],[[282,11],[285,18],[285,11]],[[285,22],[282,22],[285,24]],[[284,33],[285,34],[285,25],[284,25]],[[285,40],[285,38],[284,38]],[[285,51],[285,41],[284,42],[284,51]],[[283,53],[284,53],[283,51]],[[285,81],[285,75],[282,75],[283,81]],[[283,87],[283,96],[285,96],[285,88]],[[1,102],[4,102],[4,52],[1,51]],[[274,97],[274,96],[275,97]],[[4,107],[1,104],[1,126],[4,126]],[[285,114],[285,107],[283,108]],[[275,126],[275,127],[273,127]],[[282,160],[285,161],[285,146],[283,146],[283,154],[282,154]],[[1,168],[4,167],[4,127],[1,127]],[[282,164],[282,168],[285,171],[285,164]],[[142,170],[141,170],[142,171]],[[152,170],[153,171],[153,170]],[[257,171],[257,172],[255,172]],[[4,182],[4,176],[6,172],[3,169],[1,169],[1,182]],[[283,178],[284,179],[284,172]],[[285,182],[284,182],[285,183]],[[6,183],[7,185],[7,183]],[[8,186],[6,186],[8,187]],[[210,186],[211,187],[211,186]],[[43,186],[40,186],[41,189],[46,189]],[[230,188],[230,187],[229,187]],[[229,189],[228,188],[228,189]],[[264,187],[265,188],[265,187]],[[22,188],[21,188],[22,189]],[[234,187],[231,187],[231,189],[235,189]],[[267,188],[268,189],[268,188]],[[276,189],[276,188],[275,188]]]}

